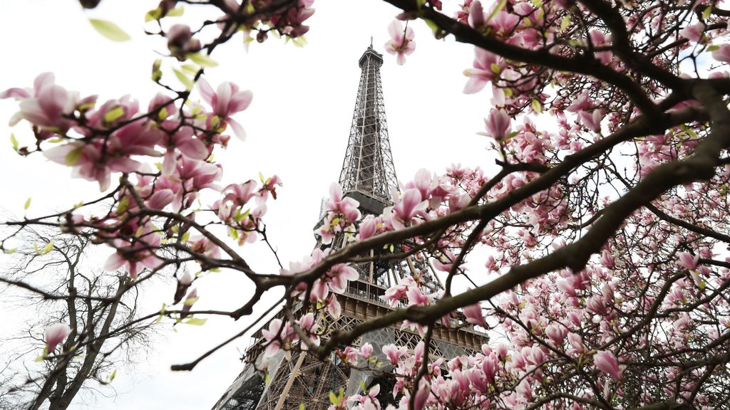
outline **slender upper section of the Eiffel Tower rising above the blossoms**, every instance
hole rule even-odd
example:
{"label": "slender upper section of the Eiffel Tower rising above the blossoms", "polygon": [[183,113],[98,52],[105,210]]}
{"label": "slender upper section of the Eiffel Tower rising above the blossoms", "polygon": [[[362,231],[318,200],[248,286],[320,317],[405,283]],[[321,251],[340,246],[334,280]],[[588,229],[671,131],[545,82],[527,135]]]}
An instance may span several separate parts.
{"label": "slender upper section of the Eiffel Tower rising above the blossoms", "polygon": [[346,196],[360,201],[364,212],[379,214],[384,206],[392,204],[391,189],[398,187],[398,179],[380,82],[383,55],[373,50],[372,36],[359,64],[360,84],[339,185]]}

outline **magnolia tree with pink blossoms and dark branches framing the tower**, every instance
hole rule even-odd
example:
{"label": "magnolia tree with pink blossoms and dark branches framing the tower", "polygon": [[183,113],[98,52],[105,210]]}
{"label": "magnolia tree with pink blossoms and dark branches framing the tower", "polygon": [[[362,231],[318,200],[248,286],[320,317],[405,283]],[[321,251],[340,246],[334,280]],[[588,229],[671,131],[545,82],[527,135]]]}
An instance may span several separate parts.
{"label": "magnolia tree with pink blossoms and dark branches framing the tower", "polygon": [[[364,218],[335,185],[319,233],[344,233],[347,245],[288,269],[254,271],[238,250],[266,240],[266,204],[281,182],[218,185],[225,164],[212,154],[240,143],[231,135],[245,136],[234,115],[252,95],[229,82],[210,85],[204,68],[234,37],[303,42],[312,0],[164,0],[147,14],[169,57],[153,64],[161,92],[146,108],[131,98],[96,101],[56,85],[53,74],[2,93],[20,102],[12,123],[25,120],[36,136],[32,146],[16,144],[20,155],[42,152],[104,192],[66,212],[5,224],[90,236],[115,250],[107,269],[123,269],[131,282],[196,263],[202,272],[242,272],[255,287],[238,309],[200,312],[194,303],[207,295],[193,278],[178,278],[180,304],[156,312],[172,322],[249,317],[266,290],[283,288],[288,316],[264,332],[269,355],[306,348],[324,358],[337,350],[357,363],[372,347],[343,345],[377,328],[411,326],[424,338],[415,352],[383,349],[401,408],[726,408],[730,8],[694,0],[388,2],[401,9],[385,45],[398,63],[415,50],[401,20],[425,20],[437,39],[475,46],[464,92],[493,107],[483,134],[496,174],[420,171],[394,193],[394,206]],[[220,17],[174,24],[169,17],[188,3]],[[112,23],[96,26],[125,37]],[[168,81],[173,72],[185,89]],[[96,203],[108,211],[86,211]],[[347,263],[406,239],[416,246],[403,252],[425,252],[443,272],[444,292],[428,294],[408,279],[386,295],[407,307],[322,338],[316,318],[337,317],[334,294],[356,277]],[[487,263],[466,271],[470,255]],[[475,285],[458,293],[453,279],[466,275]],[[431,330],[456,316],[491,330],[492,341],[473,356],[434,360],[424,349]],[[246,331],[261,318],[250,323]],[[173,368],[190,370],[215,349]],[[76,352],[64,345],[45,358]],[[377,409],[377,393],[332,407]]]}

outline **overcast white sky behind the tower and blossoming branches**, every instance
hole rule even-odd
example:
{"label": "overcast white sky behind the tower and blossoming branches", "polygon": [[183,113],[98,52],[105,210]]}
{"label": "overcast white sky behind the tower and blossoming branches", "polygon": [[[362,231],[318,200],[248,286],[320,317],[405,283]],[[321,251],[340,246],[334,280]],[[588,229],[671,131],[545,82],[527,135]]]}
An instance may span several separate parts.
{"label": "overcast white sky behind the tower and blossoming branches", "polygon": [[[37,74],[53,71],[58,84],[78,90],[82,96],[99,94],[99,101],[131,93],[147,107],[158,92],[150,82],[150,67],[164,52],[160,39],[142,32],[142,21],[157,1],[103,0],[85,12],[75,0],[2,0],[0,34],[5,39],[0,90],[30,87]],[[314,245],[320,199],[339,177],[360,71],[358,58],[374,36],[375,49],[383,53],[387,26],[397,11],[385,3],[366,0],[317,0],[310,18],[309,45],[303,49],[270,39],[253,43],[245,53],[238,36],[215,50],[220,63],[207,70],[215,88],[219,82],[237,82],[253,90],[253,104],[236,118],[248,139],[232,138],[227,152],[217,154],[223,163],[223,184],[278,174],[284,182],[280,199],[269,204],[266,216],[269,237],[284,263],[309,254]],[[112,20],[131,34],[126,43],[110,42],[91,28],[87,18]],[[196,16],[187,6],[185,20]],[[215,18],[215,15],[206,16]],[[483,131],[488,112],[488,92],[461,93],[466,78],[461,71],[472,66],[472,47],[453,39],[437,41],[422,22],[412,23],[417,48],[405,66],[385,55],[381,74],[388,115],[388,129],[396,172],[401,181],[412,179],[420,168],[442,173],[450,163],[491,169],[493,155],[488,141],[475,135]],[[165,71],[172,77],[171,71]],[[20,215],[26,198],[33,202],[29,216],[65,209],[99,195],[98,185],[70,179],[70,169],[49,163],[42,155],[20,158],[12,152],[9,134],[20,143],[32,142],[26,123],[11,130],[7,120],[15,113],[15,101],[0,101],[0,208]],[[272,255],[263,246],[241,250],[258,271],[277,271]],[[196,309],[238,306],[250,294],[250,284],[238,275],[221,273],[196,282],[200,301]],[[147,287],[147,311],[172,298],[169,287]],[[7,318],[0,337],[17,328]],[[94,409],[209,409],[241,371],[234,343],[201,363],[194,371],[173,373],[169,365],[192,360],[226,336],[245,327],[245,319],[210,320],[202,328],[179,326],[177,333],[164,328],[153,352],[134,371],[120,369],[114,400],[99,397],[89,402]],[[85,408],[81,403],[74,409]]]}

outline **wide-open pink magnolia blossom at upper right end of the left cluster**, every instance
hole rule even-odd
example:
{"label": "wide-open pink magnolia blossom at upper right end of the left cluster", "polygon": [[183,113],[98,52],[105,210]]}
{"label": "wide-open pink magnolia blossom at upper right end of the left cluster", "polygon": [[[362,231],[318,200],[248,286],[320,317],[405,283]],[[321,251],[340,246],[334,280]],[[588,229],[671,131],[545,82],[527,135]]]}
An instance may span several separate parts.
{"label": "wide-open pink magnolia blossom at upper right end of the left cluster", "polygon": [[246,131],[241,124],[231,118],[231,115],[247,109],[253,99],[253,93],[250,90],[239,90],[238,85],[232,82],[221,82],[215,91],[204,78],[198,80],[198,85],[203,100],[210,104],[213,113],[220,117],[223,123],[231,125],[239,139],[245,140]]}

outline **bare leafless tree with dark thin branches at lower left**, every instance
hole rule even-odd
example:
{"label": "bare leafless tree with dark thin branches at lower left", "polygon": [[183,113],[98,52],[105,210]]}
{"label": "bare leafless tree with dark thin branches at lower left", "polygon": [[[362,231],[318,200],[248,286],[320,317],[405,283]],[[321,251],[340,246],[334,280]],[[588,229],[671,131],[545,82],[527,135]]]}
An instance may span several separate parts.
{"label": "bare leafless tree with dark thin branches at lower left", "polygon": [[[136,283],[92,268],[88,237],[26,230],[23,239],[0,282],[10,295],[8,303],[27,306],[37,320],[12,338],[14,361],[26,367],[13,369],[0,395],[7,395],[15,408],[22,403],[28,409],[44,404],[66,409],[82,390],[109,388],[116,369],[144,352],[153,323],[135,321]],[[69,328],[62,346],[28,365],[39,354],[45,329],[56,323]]]}

